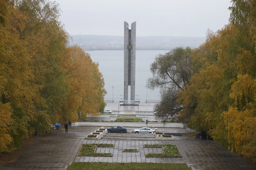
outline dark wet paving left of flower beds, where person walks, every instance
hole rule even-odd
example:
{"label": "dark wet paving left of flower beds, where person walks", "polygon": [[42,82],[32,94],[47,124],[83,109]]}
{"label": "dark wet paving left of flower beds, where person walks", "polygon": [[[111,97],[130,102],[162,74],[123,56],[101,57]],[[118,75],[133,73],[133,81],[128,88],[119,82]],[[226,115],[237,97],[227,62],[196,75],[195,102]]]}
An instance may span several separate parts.
{"label": "dark wet paving left of flower beds, where person walks", "polygon": [[[56,169],[63,170],[73,162],[85,137],[100,127],[69,128],[69,132],[57,133],[47,138],[37,138],[34,143],[13,163],[0,169]],[[60,130],[60,129],[59,129]]]}

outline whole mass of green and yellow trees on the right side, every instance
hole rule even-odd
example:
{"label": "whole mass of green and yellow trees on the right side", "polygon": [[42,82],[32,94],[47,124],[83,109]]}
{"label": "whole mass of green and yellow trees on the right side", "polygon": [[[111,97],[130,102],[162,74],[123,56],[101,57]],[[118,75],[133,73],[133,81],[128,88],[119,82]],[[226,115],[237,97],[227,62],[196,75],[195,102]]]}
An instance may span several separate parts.
{"label": "whole mass of green and yellow trees on the right side", "polygon": [[159,119],[208,131],[223,147],[256,161],[256,3],[232,0],[229,24],[199,48],[156,56],[147,86],[161,90]]}

